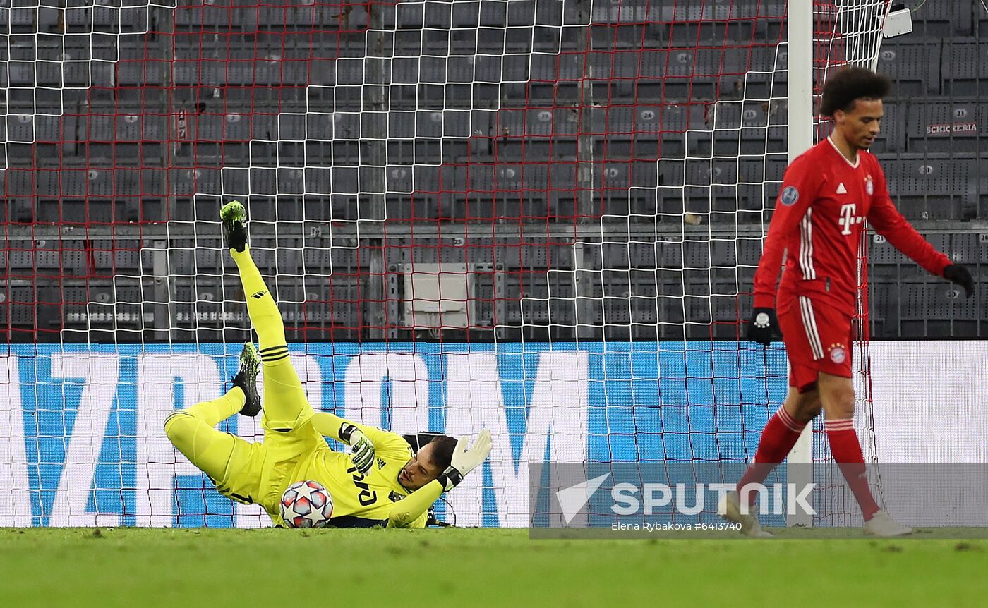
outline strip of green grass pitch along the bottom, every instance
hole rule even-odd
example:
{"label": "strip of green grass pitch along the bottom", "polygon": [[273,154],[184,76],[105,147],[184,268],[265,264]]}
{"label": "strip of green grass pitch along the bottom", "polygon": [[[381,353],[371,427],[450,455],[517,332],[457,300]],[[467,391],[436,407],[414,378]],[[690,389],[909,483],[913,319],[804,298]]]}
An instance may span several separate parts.
{"label": "strip of green grass pitch along the bottom", "polygon": [[0,529],[0,606],[983,606],[988,541]]}

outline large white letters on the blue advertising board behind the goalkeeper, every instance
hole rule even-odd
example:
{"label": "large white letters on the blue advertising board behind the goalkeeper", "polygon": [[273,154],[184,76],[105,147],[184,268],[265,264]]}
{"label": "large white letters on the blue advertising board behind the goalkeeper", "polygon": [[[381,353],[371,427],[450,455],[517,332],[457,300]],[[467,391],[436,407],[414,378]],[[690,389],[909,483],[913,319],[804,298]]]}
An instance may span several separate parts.
{"label": "large white letters on the blue advertising board behind the goalkeeper", "polygon": [[[430,365],[427,357],[420,354],[383,351],[349,357],[294,354],[292,362],[309,403],[317,409],[320,405],[344,405],[346,418],[373,425],[382,425],[389,418],[387,425],[404,433],[445,430],[459,436],[475,435],[484,427],[491,429],[499,439],[488,459],[492,483],[484,488],[485,475],[468,476],[448,495],[456,523],[482,525],[483,505],[493,498],[491,506],[496,509],[500,525],[528,525],[528,463],[546,456],[557,462],[587,459],[588,354],[538,353],[537,368],[524,372],[525,397],[512,399],[506,399],[502,389],[505,380],[497,354],[463,352],[432,358]],[[0,403],[5,404],[0,421],[10,430],[0,437],[0,462],[12,465],[9,475],[0,475],[0,496],[12,498],[6,505],[0,503],[0,526],[31,525],[31,493],[41,490],[28,473],[21,364],[37,366],[38,361],[24,357],[19,360],[16,354],[0,359]],[[111,413],[133,410],[136,453],[133,464],[128,466],[135,466],[134,521],[140,526],[171,526],[177,514],[176,478],[201,473],[174,450],[164,435],[164,420],[175,408],[219,394],[225,379],[219,359],[199,352],[144,352],[135,356],[54,352],[50,365],[53,382],[64,381],[75,390],[81,388],[81,395],[77,407],[68,403],[38,404],[40,409],[58,405],[66,411],[62,419],[74,418],[71,426],[64,429],[64,460],[52,463],[61,465],[62,470],[57,489],[46,488],[55,490],[50,509],[45,509],[48,525],[123,523],[121,513],[93,512],[91,494],[100,487],[96,474],[104,444],[113,439],[108,437]],[[337,370],[344,365],[341,380]],[[123,367],[130,367],[127,377],[132,380],[122,378]],[[136,373],[131,376],[134,367]],[[331,382],[334,372],[337,380]],[[129,387],[131,392],[124,391],[124,384],[129,382],[136,386]],[[30,385],[23,389],[32,390]],[[129,399],[124,395],[129,394],[135,394],[135,404],[124,403]],[[72,417],[67,415],[70,410]],[[263,436],[259,419],[232,419],[238,435],[248,439]],[[130,432],[122,429],[120,434]],[[237,504],[235,508],[239,527],[270,525],[257,505]],[[129,508],[127,511],[131,512]]]}

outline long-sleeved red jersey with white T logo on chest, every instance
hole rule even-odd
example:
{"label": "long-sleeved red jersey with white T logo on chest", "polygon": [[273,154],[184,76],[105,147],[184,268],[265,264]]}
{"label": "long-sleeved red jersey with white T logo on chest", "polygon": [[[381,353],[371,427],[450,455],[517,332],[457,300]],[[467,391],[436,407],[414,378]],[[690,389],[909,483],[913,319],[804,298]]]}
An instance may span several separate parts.
{"label": "long-sleeved red jersey with white T logo on chest", "polygon": [[878,160],[860,150],[858,162],[852,163],[828,137],[785,170],[755,272],[755,307],[776,307],[776,280],[785,254],[780,295],[809,296],[853,315],[865,219],[930,272],[943,275],[951,264],[895,208]]}

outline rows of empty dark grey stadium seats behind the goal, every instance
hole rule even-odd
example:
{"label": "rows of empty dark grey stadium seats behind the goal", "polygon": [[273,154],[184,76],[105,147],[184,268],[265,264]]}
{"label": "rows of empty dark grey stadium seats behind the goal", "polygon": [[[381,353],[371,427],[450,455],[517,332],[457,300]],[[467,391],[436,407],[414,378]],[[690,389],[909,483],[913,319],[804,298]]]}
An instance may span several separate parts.
{"label": "rows of empty dark grey stadium seats behind the goal", "polygon": [[[10,106],[0,123],[10,165],[0,178],[8,194],[0,221],[192,225],[212,220],[220,194],[236,194],[266,228],[302,219],[350,226],[383,220],[368,201],[386,190],[384,213],[394,225],[554,224],[572,221],[580,208],[587,184],[578,179],[576,151],[590,144],[593,156],[584,158],[593,159],[587,175],[597,190],[591,215],[603,215],[590,217],[590,225],[617,231],[585,248],[599,281],[582,294],[592,302],[576,298],[571,243],[490,238],[460,247],[417,238],[408,248],[396,239],[402,245],[386,248],[386,264],[410,257],[503,265],[503,293],[493,284],[478,293],[502,300],[505,316],[496,322],[508,326],[524,321],[548,332],[557,324],[559,335],[573,338],[565,333],[577,321],[607,322],[614,339],[731,338],[733,325],[702,324],[733,322],[750,306],[736,293],[749,289],[759,239],[628,244],[618,237],[628,238],[628,226],[678,226],[684,212],[715,230],[764,219],[785,157],[762,155],[767,142],[770,152],[784,152],[785,130],[776,125],[784,124],[785,108],[762,100],[783,95],[786,57],[774,45],[750,47],[751,23],[717,20],[782,15],[784,2],[595,1],[589,32],[587,16],[560,3],[539,14],[547,27],[535,36],[476,31],[478,24],[531,25],[534,7],[398,3],[380,16],[383,31],[394,33],[382,37],[390,55],[379,62],[365,59],[371,16],[363,5],[342,13],[332,4],[262,3],[237,20],[222,6],[183,5],[174,11],[183,35],[174,48],[121,36],[148,30],[149,13],[139,8],[0,11],[0,26],[12,35],[85,35],[63,37],[61,48],[43,42],[38,56],[46,59],[11,56],[0,70]],[[646,17],[667,23],[635,25]],[[971,0],[928,0],[913,19],[912,34],[881,44],[878,70],[895,89],[872,151],[905,215],[948,222],[928,233],[931,241],[953,260],[983,268],[988,236],[960,222],[988,219],[988,102],[981,101],[988,94],[988,11]],[[564,24],[578,27],[553,27]],[[184,36],[204,27],[215,36]],[[423,34],[423,27],[433,31]],[[726,40],[729,48],[676,48],[698,39]],[[138,86],[155,81],[177,87],[173,108],[141,97]],[[390,87],[383,106],[371,108],[365,84],[375,82]],[[44,94],[55,88],[63,88],[58,96]],[[185,112],[183,135],[177,110]],[[174,145],[179,140],[186,143]],[[373,164],[371,145],[382,168],[360,170]],[[739,154],[758,156],[729,160]],[[338,337],[356,338],[367,312],[362,281],[370,256],[358,243],[305,245],[259,240],[254,250],[262,271],[276,277],[288,325],[350,328]],[[66,239],[38,243],[35,252],[0,250],[12,276],[0,326],[64,326],[68,341],[96,330],[118,339],[129,332],[132,340],[160,297],[148,280],[154,247],[160,244]],[[228,312],[243,311],[229,304],[238,301],[239,285],[218,241],[175,242],[162,259],[176,277],[173,338],[241,331],[242,319],[219,314],[223,299]],[[880,239],[869,263],[875,336],[988,335],[984,294],[958,298]],[[736,265],[746,267],[735,272]],[[50,278],[59,275],[98,279],[83,286]],[[481,323],[495,323],[494,304],[479,310]],[[684,330],[682,323],[698,325]],[[314,332],[307,336],[318,338]]]}

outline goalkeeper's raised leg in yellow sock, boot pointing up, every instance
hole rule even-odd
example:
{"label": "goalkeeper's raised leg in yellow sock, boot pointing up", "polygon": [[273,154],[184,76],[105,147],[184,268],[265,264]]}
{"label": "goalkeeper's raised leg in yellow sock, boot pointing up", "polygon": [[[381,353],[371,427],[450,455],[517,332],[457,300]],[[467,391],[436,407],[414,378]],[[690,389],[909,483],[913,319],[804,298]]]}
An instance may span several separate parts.
{"label": "goalkeeper's raised leg in yellow sock, boot pointing up", "polygon": [[298,375],[288,358],[285,324],[275,298],[254,264],[247,245],[247,212],[239,201],[220,210],[226,244],[240,272],[247,299],[247,314],[260,342],[264,374],[264,418],[266,429],[288,432],[300,426],[314,412],[305,399]]}

